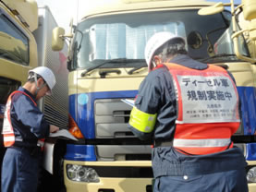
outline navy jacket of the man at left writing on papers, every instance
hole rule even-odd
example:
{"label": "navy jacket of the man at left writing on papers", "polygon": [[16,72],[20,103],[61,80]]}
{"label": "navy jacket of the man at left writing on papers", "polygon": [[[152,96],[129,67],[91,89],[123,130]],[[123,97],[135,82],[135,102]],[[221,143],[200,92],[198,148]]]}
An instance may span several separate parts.
{"label": "navy jacket of the man at left writing on papers", "polygon": [[[35,101],[30,91],[18,88],[30,95]],[[11,123],[14,129],[16,140],[22,140],[26,146],[36,144],[38,138],[45,138],[49,135],[49,124],[45,121],[43,113],[34,105],[31,99],[21,93],[16,93],[12,97]]]}

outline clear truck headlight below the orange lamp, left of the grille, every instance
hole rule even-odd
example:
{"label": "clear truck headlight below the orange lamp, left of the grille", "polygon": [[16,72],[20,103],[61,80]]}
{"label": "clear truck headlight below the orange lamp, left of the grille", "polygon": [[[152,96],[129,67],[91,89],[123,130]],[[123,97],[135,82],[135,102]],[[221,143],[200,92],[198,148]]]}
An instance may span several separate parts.
{"label": "clear truck headlight below the orange lamp, left of the grille", "polygon": [[67,177],[72,181],[100,182],[99,175],[94,169],[79,164],[67,164]]}

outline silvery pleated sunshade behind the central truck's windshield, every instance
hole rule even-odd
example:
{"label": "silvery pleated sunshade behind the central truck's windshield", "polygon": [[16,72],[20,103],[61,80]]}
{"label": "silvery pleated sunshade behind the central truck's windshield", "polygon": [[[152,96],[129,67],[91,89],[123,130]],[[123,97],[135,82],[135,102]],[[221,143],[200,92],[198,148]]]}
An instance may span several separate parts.
{"label": "silvery pleated sunshade behind the central truck's windshield", "polygon": [[[144,47],[148,37],[156,31],[168,30],[186,37],[183,22],[167,22],[161,25],[141,25],[136,28],[126,23],[94,24],[88,31],[89,61],[95,59],[144,59]],[[141,40],[141,41],[140,41]]]}

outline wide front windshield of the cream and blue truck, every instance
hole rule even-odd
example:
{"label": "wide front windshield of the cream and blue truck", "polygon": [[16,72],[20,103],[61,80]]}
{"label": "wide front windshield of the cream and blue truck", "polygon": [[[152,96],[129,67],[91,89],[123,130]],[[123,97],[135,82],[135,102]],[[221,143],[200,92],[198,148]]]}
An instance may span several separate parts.
{"label": "wide front windshield of the cream and blue truck", "polygon": [[[118,58],[132,62],[110,62],[100,67],[146,66],[146,42],[159,31],[184,37],[189,56],[194,59],[207,60],[207,63],[238,61],[231,41],[230,13],[199,16],[197,12],[144,12],[85,19],[79,23],[73,42],[72,68],[87,69]],[[242,38],[239,46],[241,53],[248,55]],[[134,62],[136,60],[138,62]]]}

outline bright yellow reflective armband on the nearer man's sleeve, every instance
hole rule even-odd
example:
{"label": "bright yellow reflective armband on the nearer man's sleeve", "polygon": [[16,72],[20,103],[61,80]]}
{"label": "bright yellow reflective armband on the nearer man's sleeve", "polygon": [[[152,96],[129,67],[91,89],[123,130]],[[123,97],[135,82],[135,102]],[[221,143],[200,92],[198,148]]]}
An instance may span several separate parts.
{"label": "bright yellow reflective armband on the nearer man's sleeve", "polygon": [[134,106],[131,110],[128,123],[140,132],[151,133],[155,125],[156,115],[141,112]]}

